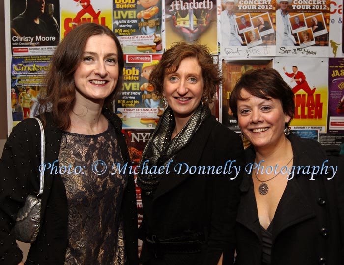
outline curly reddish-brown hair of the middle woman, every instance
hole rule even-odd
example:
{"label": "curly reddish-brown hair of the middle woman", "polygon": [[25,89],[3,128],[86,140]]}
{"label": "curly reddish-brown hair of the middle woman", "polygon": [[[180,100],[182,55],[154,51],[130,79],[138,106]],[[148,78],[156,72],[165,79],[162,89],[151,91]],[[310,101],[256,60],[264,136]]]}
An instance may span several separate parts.
{"label": "curly reddish-brown hair of the middle woman", "polygon": [[176,42],[161,57],[149,76],[149,83],[154,86],[155,93],[159,96],[164,91],[165,75],[178,70],[180,62],[188,57],[196,58],[202,69],[204,81],[203,102],[211,103],[218,85],[222,82],[222,75],[217,62],[205,45]]}

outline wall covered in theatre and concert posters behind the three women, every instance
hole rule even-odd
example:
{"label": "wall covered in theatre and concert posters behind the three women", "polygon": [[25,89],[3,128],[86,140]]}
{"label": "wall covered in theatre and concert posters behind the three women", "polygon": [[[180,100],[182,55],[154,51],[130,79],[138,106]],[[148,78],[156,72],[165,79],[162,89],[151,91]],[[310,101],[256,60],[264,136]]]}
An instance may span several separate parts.
{"label": "wall covered in theatre and concert posters behind the three women", "polygon": [[[133,163],[165,110],[149,83],[151,69],[180,41],[206,45],[222,69],[223,83],[210,108],[225,126],[239,132],[229,97],[241,75],[274,68],[295,95],[292,133],[341,145],[344,153],[342,0],[286,0],[283,6],[280,0],[87,0],[88,5],[86,0],[46,0],[35,28],[27,15],[34,6],[8,1],[7,94],[13,126],[36,115],[39,91],[60,40],[78,25],[94,22],[111,29],[123,48],[124,82],[114,111]],[[139,188],[137,195],[140,206]]]}

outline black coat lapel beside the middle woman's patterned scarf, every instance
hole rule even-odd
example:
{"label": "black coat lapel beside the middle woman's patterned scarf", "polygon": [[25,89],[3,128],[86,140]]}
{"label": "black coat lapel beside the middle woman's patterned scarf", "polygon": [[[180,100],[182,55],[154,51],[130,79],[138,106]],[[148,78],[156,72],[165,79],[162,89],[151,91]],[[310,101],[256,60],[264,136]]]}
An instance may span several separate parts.
{"label": "black coat lapel beside the middle woman's patterned scarf", "polygon": [[[189,144],[176,154],[173,162],[169,166],[170,173],[162,176],[155,192],[154,200],[174,189],[189,177],[189,172],[177,175],[174,171],[174,166],[178,165],[178,163],[185,163],[189,168],[190,166],[197,166],[215,121],[213,116],[206,118],[197,132],[192,136]],[[183,168],[186,167],[184,166]],[[184,171],[185,169],[181,170],[182,173]]]}

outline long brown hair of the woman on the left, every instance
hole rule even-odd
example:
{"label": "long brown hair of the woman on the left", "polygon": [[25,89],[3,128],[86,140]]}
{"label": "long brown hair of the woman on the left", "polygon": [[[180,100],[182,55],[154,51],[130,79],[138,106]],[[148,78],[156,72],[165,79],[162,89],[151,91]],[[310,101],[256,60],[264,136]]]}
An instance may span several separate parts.
{"label": "long brown hair of the woman on the left", "polygon": [[[119,75],[117,85],[104,101],[104,107],[113,110],[115,97],[123,84],[123,51],[115,33],[109,28],[95,23],[85,23],[70,31],[60,42],[52,57],[47,74],[46,87],[40,92],[39,114],[51,111],[57,127],[66,130],[70,127],[69,113],[75,103],[74,73],[79,67],[86,42],[89,37],[107,35],[111,37],[117,47]],[[45,123],[44,115],[42,120]]]}

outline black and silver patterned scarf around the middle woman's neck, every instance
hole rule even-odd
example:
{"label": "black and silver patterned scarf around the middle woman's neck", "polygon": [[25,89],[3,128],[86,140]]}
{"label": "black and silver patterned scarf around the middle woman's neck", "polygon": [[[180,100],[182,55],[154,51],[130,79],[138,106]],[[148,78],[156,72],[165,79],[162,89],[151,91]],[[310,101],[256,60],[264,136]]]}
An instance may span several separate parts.
{"label": "black and silver patterned scarf around the middle woman's neck", "polygon": [[208,116],[210,116],[209,107],[200,103],[182,130],[171,140],[175,119],[170,107],[165,110],[143,150],[138,165],[140,166],[140,173],[137,175],[137,185],[142,192],[152,196],[163,176],[162,174],[141,174],[143,162],[148,160],[144,165],[148,166],[148,172],[152,166],[166,167],[176,153],[190,142],[194,133]]}

